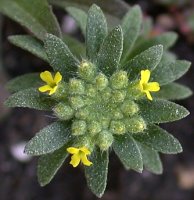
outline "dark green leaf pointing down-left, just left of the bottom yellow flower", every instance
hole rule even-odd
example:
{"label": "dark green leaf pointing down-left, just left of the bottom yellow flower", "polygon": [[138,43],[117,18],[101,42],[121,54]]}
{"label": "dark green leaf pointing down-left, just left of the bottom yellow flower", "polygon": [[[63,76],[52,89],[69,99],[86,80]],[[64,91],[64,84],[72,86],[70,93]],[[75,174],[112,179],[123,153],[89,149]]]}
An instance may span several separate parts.
{"label": "dark green leaf pointing down-left, just left of the bottom yellow flower", "polygon": [[41,186],[45,186],[53,179],[68,156],[67,146],[63,146],[53,153],[43,155],[38,160],[37,176]]}

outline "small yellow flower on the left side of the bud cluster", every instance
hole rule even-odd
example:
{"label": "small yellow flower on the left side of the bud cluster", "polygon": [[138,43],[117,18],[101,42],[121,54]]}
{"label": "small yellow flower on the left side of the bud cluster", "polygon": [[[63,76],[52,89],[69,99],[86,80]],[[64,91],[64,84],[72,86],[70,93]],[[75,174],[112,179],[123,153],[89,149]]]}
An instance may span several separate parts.
{"label": "small yellow flower on the left side of the bud cluster", "polygon": [[40,73],[40,78],[46,82],[46,85],[39,87],[40,92],[49,91],[49,95],[52,95],[56,92],[58,84],[62,80],[60,72],[57,72],[53,78],[52,74],[49,71],[44,71]]}

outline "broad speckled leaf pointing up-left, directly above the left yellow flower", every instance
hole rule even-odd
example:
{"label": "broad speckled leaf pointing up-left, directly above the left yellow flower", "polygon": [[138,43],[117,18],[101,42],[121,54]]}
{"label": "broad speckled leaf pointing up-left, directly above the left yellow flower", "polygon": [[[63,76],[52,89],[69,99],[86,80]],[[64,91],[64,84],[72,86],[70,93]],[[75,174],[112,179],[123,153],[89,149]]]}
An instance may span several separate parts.
{"label": "broad speckled leaf pointing up-left, directly above the left yellow flower", "polygon": [[78,60],[60,38],[47,34],[44,43],[49,63],[54,71],[61,72],[63,79],[69,80],[77,71]]}

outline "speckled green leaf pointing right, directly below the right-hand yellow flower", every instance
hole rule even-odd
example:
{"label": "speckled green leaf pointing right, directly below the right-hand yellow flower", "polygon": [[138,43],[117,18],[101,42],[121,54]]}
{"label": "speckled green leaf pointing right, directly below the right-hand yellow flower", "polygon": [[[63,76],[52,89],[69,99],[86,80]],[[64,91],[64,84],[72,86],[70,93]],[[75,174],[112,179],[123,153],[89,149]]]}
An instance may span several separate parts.
{"label": "speckled green leaf pointing right, directly below the right-hand yellow flower", "polygon": [[189,111],[167,100],[155,99],[138,101],[141,116],[148,123],[172,122],[186,117]]}

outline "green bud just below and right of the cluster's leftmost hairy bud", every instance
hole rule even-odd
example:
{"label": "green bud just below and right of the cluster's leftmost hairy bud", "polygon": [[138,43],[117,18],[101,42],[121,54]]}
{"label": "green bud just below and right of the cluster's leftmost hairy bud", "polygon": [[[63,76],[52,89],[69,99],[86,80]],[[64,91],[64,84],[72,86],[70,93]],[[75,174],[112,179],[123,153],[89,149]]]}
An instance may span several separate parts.
{"label": "green bud just below and right of the cluster's leftmost hairy bud", "polygon": [[75,120],[71,126],[72,135],[83,135],[86,132],[86,122],[83,120]]}

